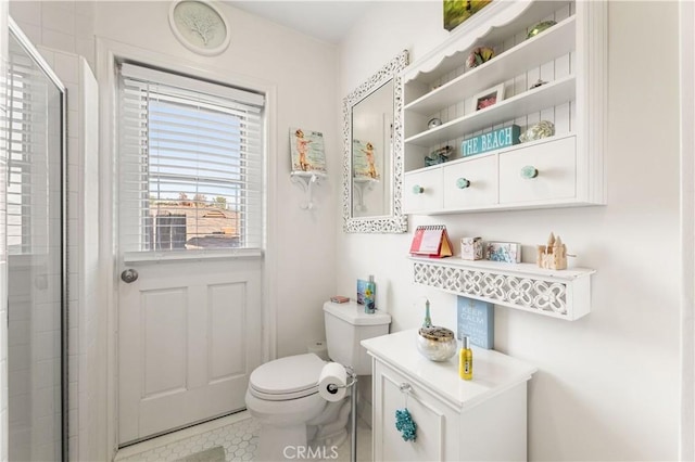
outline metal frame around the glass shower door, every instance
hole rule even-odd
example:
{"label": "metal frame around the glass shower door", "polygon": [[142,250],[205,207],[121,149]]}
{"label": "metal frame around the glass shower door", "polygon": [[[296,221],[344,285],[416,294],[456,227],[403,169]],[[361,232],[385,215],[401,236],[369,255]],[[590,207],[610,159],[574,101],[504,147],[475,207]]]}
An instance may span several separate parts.
{"label": "metal frame around the glass shower door", "polygon": [[[67,120],[67,89],[65,85],[58,77],[55,72],[49,66],[43,56],[36,49],[34,43],[22,31],[20,26],[14,22],[12,16],[8,17],[9,34],[12,34],[27,54],[34,60],[37,66],[46,74],[51,82],[58,88],[60,92],[60,137],[61,137],[61,171],[60,171],[60,187],[61,187],[61,453],[63,461],[68,460],[68,376],[67,376],[67,137],[66,137],[66,120]],[[10,98],[10,95],[8,95]],[[9,308],[9,307],[8,307]],[[9,322],[9,317],[8,317]]]}

